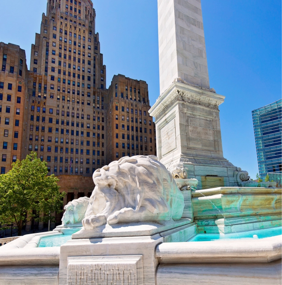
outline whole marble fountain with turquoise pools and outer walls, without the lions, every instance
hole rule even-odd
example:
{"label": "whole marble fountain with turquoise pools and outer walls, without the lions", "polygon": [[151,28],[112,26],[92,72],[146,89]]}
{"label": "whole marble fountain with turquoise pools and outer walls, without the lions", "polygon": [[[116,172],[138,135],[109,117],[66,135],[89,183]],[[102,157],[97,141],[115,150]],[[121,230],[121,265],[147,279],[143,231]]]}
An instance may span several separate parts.
{"label": "whole marble fountain with turquoise pools and outer walls, without the lions", "polygon": [[80,280],[72,284],[80,284],[106,265],[101,274],[128,267],[144,277],[143,285],[281,283],[282,189],[219,187],[185,195],[192,218],[174,228],[147,232],[144,225],[143,235],[127,229],[127,236],[66,241],[79,227],[61,226],[18,238],[0,249],[0,285],[63,285],[76,272]]}

